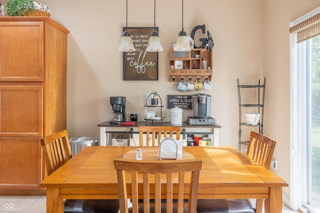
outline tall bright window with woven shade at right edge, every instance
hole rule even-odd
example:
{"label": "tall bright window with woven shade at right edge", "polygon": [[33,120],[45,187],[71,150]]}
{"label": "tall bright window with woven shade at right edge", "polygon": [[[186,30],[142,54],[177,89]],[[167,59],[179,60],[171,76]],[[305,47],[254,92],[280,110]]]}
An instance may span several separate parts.
{"label": "tall bright window with woven shade at right edge", "polygon": [[316,213],[320,212],[320,7],[294,22],[290,28],[294,33],[290,35],[290,203],[294,210],[303,207]]}

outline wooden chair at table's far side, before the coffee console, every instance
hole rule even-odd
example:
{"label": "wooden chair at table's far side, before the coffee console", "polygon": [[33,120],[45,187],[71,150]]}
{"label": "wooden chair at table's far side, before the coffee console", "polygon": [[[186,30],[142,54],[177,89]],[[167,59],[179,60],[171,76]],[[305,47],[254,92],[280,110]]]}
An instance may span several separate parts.
{"label": "wooden chair at table's far side, before the coffee console", "polygon": [[[176,133],[176,140],[180,139],[180,126],[139,126],[139,142],[140,146],[143,147],[143,133],[146,133],[146,147],[150,147],[149,141],[151,139],[151,147],[159,146],[161,134],[163,137],[172,137],[173,133]],[[150,138],[151,135],[151,138]],[[156,140],[157,138],[157,140]]]}

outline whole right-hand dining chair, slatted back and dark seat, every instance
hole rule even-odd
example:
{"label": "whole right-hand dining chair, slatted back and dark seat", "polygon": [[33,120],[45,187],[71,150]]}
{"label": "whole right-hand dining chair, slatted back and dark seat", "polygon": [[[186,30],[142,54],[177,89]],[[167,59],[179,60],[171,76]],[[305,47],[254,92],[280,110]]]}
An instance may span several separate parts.
{"label": "whole right-hand dining chair, slatted back and dark seat", "polygon": [[[251,131],[246,156],[269,169],[276,141]],[[248,199],[199,199],[197,213],[262,213],[263,199],[256,199],[255,208]]]}

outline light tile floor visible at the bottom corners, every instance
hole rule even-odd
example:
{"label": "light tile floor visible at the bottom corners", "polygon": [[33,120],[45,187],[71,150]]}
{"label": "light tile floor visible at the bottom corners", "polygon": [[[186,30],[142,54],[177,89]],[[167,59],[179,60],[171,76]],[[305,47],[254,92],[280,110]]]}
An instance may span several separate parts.
{"label": "light tile floor visible at the bottom corners", "polygon": [[[0,196],[0,213],[45,213],[45,196]],[[282,213],[298,213],[282,205]]]}

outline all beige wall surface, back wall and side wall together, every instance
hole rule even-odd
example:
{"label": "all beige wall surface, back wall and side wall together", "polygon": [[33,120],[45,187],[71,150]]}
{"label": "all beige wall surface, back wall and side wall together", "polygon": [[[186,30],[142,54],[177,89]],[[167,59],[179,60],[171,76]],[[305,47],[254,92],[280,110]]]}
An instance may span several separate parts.
{"label": "all beige wall surface, back wall and side wall together", "polygon": [[[164,51],[158,81],[123,81],[117,51],[125,26],[125,0],[41,0],[68,35],[67,129],[70,136],[98,137],[97,124],[112,116],[109,96],[126,96],[126,112],[143,120],[145,94],[162,100],[179,92],[168,82],[168,49],[181,30],[181,0],[157,0],[156,26]],[[5,2],[2,1],[2,4]],[[205,24],[214,40],[211,116],[220,145],[237,148],[236,79],[253,84],[266,77],[264,133],[278,141],[279,176],[289,182],[289,22],[320,6],[319,0],[185,0],[184,30]],[[128,26],[153,26],[153,1],[129,0]],[[200,36],[198,36],[199,38]],[[201,35],[202,37],[202,35]],[[194,92],[195,93],[195,92]],[[164,101],[166,105],[166,101]],[[164,109],[166,121],[170,111]],[[191,116],[183,111],[183,119]],[[284,189],[289,197],[289,189]]]}

